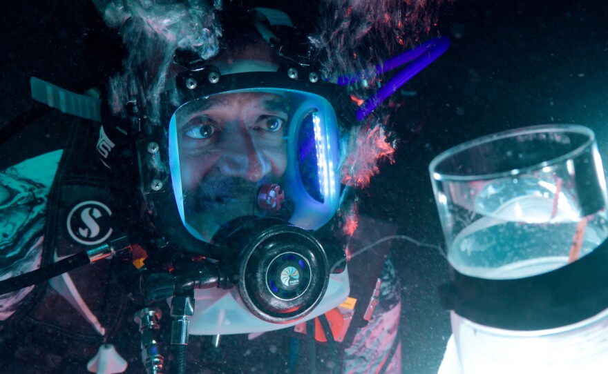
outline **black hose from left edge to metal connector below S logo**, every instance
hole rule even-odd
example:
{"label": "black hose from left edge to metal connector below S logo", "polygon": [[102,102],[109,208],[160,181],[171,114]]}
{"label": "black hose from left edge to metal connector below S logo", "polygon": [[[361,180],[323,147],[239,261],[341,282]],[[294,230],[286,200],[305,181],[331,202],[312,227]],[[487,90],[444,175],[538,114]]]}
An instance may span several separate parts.
{"label": "black hose from left edge to metal connector below S logo", "polygon": [[91,263],[86,251],[62,259],[43,268],[0,281],[0,295],[38,284],[80,266]]}

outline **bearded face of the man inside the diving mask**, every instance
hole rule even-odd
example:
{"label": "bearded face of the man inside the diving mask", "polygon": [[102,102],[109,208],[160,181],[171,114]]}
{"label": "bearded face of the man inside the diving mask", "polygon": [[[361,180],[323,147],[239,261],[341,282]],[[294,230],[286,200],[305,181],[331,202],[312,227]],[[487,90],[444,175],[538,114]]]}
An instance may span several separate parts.
{"label": "bearded face of the man inside the diving mask", "polygon": [[286,99],[264,92],[213,95],[178,112],[184,205],[209,240],[231,219],[254,215],[260,186],[287,165]]}

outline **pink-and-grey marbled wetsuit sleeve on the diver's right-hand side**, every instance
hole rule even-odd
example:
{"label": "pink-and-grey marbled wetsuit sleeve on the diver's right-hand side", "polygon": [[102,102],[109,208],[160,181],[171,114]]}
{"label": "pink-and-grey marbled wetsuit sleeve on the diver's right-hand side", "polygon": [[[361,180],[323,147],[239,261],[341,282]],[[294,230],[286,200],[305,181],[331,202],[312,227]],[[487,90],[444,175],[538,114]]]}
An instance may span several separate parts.
{"label": "pink-and-grey marbled wetsuit sleeve on the diver's right-hand side", "polygon": [[345,351],[343,373],[401,373],[399,279],[390,257],[381,273],[380,302],[367,326],[360,328]]}

